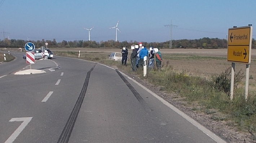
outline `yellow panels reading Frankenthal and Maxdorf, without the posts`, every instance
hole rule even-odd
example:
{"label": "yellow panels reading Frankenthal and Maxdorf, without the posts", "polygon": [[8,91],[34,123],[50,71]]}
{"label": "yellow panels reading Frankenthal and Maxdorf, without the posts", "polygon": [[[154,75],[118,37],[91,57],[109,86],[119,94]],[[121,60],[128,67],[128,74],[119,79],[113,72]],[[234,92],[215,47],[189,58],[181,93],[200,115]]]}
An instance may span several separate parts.
{"label": "yellow panels reading Frankenthal and Maxdorf, without the posts", "polygon": [[228,61],[251,63],[252,26],[229,28]]}

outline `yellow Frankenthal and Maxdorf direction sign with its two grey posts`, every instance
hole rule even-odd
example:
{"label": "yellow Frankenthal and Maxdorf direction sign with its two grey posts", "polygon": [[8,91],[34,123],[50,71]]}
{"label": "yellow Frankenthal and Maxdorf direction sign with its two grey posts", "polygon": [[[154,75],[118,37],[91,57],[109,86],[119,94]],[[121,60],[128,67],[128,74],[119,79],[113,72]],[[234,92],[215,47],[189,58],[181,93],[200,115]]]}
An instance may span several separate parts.
{"label": "yellow Frankenthal and Maxdorf direction sign with its two grey posts", "polygon": [[230,100],[233,99],[233,93],[234,93],[235,62],[246,64],[245,99],[247,100],[248,86],[249,86],[249,69],[251,64],[251,48],[252,48],[252,25],[251,24],[245,27],[229,28],[227,60],[229,62],[232,62]]}

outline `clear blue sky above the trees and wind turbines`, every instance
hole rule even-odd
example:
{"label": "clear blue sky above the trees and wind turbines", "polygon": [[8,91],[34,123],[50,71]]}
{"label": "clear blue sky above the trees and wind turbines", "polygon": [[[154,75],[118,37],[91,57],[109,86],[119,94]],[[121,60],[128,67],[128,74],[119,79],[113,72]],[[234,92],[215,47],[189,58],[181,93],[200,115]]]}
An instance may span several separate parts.
{"label": "clear blue sky above the trees and wind turbines", "polygon": [[0,39],[115,40],[118,21],[119,42],[225,39],[255,14],[256,0],[0,0]]}

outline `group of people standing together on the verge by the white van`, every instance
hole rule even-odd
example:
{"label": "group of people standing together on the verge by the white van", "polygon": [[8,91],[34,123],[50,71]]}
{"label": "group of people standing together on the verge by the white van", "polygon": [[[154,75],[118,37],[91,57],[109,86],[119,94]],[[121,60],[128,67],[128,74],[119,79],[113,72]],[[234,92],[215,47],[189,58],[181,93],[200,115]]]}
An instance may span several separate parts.
{"label": "group of people standing together on the verge by the white van", "polygon": [[[132,71],[136,71],[137,68],[143,67],[144,66],[144,57],[146,56],[148,61],[148,67],[153,68],[154,67],[154,57],[156,61],[156,67],[158,69],[161,69],[162,65],[162,54],[160,52],[160,49],[155,53],[154,48],[151,47],[150,52],[147,51],[146,47],[142,46],[142,43],[138,43],[139,47],[138,48],[133,48],[132,53],[131,53],[131,66],[132,66]],[[132,45],[132,47],[135,47],[135,45]],[[127,66],[127,59],[128,59],[128,49],[123,48],[122,49],[122,65]]]}

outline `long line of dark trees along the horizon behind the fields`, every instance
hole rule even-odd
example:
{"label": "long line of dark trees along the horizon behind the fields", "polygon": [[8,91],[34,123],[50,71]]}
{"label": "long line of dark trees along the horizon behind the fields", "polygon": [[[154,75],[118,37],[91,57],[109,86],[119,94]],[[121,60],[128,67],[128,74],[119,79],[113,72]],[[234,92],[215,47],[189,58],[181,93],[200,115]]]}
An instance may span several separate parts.
{"label": "long line of dark trees along the horizon behind the fields", "polygon": [[[142,41],[86,41],[86,40],[74,40],[62,42],[56,42],[56,39],[53,40],[16,40],[8,39],[0,40],[1,48],[23,48],[27,42],[32,42],[36,47],[45,46],[45,43],[48,43],[49,48],[78,48],[78,47],[87,47],[87,48],[123,48],[130,47],[132,44],[138,44]],[[145,47],[153,46],[154,48],[169,48],[169,41],[166,42],[142,42]],[[219,38],[201,38],[201,39],[181,39],[181,40],[172,40],[172,48],[227,48],[228,42],[226,39]],[[256,48],[255,39],[252,39],[252,48]]]}

